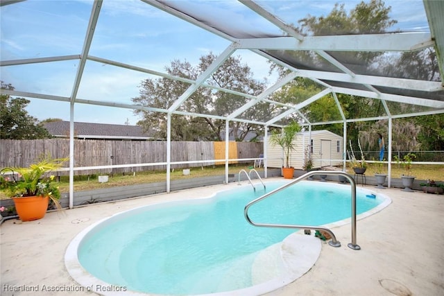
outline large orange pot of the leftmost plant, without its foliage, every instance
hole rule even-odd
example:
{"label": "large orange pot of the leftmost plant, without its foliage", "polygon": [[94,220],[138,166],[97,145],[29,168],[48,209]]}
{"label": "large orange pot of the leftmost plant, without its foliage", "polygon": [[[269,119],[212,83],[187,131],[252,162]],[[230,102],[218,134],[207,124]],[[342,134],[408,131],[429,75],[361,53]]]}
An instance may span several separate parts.
{"label": "large orange pot of the leftmost plant, without its foliage", "polygon": [[22,221],[43,218],[49,203],[48,196],[28,196],[26,198],[12,198],[12,200],[14,200],[15,210]]}

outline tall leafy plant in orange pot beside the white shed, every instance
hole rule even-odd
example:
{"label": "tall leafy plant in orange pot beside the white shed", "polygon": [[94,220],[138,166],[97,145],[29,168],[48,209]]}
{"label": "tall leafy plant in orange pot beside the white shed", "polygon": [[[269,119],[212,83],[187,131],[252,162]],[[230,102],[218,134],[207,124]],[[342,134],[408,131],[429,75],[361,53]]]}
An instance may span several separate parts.
{"label": "tall leafy plant in orange pot beside the white shed", "polygon": [[282,168],[282,175],[284,175],[286,179],[293,178],[294,168],[290,166],[290,152],[295,150],[296,143],[293,143],[293,141],[296,139],[298,132],[300,132],[300,125],[296,121],[293,121],[282,128],[281,132],[274,130],[271,134],[271,144],[273,146],[279,145],[284,150],[285,166]]}

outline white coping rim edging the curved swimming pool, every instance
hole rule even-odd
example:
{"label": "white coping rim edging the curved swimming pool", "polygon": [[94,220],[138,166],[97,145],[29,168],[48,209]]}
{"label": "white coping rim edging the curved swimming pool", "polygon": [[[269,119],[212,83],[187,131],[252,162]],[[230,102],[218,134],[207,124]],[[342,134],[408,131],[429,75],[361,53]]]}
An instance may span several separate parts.
{"label": "white coping rim edging the curved swimming pool", "polygon": [[[276,182],[276,180],[270,181]],[[347,186],[344,184],[337,184],[339,186]],[[73,277],[73,279],[78,282],[81,286],[85,288],[86,291],[99,293],[101,295],[109,295],[109,296],[117,296],[117,295],[128,295],[128,296],[147,296],[147,295],[162,295],[162,294],[154,294],[154,293],[142,293],[134,290],[127,290],[124,286],[115,286],[109,284],[101,279],[90,275],[85,268],[78,261],[77,256],[77,248],[80,242],[89,234],[89,232],[94,229],[97,225],[105,223],[107,220],[112,220],[117,216],[125,215],[127,212],[134,211],[137,209],[143,209],[146,207],[168,207],[171,204],[181,204],[181,203],[189,203],[190,200],[194,202],[207,202],[212,200],[216,196],[216,193],[227,191],[228,189],[223,189],[220,191],[216,191],[211,195],[205,196],[203,198],[192,198],[187,200],[171,200],[168,202],[156,202],[154,204],[150,204],[148,206],[135,207],[133,209],[127,209],[126,211],[121,211],[119,213],[113,214],[110,217],[103,218],[92,225],[89,225],[85,229],[83,229],[79,234],[75,236],[75,238],[69,243],[67,250],[65,252],[65,267],[69,272],[69,275]],[[381,204],[378,204],[377,207],[370,209],[362,214],[357,216],[357,220],[361,220],[368,216],[371,216],[378,211],[382,211],[388,204],[391,204],[391,198],[388,198],[387,195],[382,193],[376,193],[370,189],[357,188],[357,190],[370,192],[375,194],[379,198],[384,198]],[[347,225],[351,223],[351,218],[346,218],[343,220],[336,221],[334,223],[329,223],[327,225],[323,225],[327,228],[335,228],[341,227],[343,225]],[[302,275],[305,275],[311,267],[316,263],[318,256],[321,254],[321,240],[318,238],[314,238],[314,236],[302,235],[303,229],[298,232],[294,232],[290,234],[280,243],[280,252],[281,259],[284,265],[284,270],[282,270],[282,276],[275,277],[271,280],[264,281],[261,284],[253,285],[247,288],[241,288],[238,290],[230,290],[226,292],[219,293],[210,293],[210,294],[196,294],[196,296],[230,296],[230,295],[260,295],[264,293],[270,293],[273,290],[277,290],[278,288],[282,288],[283,286],[287,286],[293,281],[296,281]],[[271,247],[271,246],[269,246]],[[268,247],[264,250],[267,250]],[[263,250],[263,251],[264,251]],[[303,253],[302,253],[303,252]],[[303,256],[295,256],[295,254],[303,254]],[[308,254],[308,255],[307,255]],[[298,266],[298,268],[295,268]]]}

